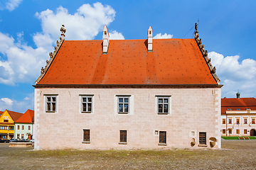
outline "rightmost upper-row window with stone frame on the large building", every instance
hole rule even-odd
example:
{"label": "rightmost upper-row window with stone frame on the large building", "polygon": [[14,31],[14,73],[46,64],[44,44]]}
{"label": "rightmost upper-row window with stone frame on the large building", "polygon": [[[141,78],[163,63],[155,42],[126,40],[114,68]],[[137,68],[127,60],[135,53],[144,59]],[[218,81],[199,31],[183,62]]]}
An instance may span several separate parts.
{"label": "rightmost upper-row window with stone frame on the large building", "polygon": [[170,97],[171,96],[157,96],[157,113],[168,114],[170,113]]}

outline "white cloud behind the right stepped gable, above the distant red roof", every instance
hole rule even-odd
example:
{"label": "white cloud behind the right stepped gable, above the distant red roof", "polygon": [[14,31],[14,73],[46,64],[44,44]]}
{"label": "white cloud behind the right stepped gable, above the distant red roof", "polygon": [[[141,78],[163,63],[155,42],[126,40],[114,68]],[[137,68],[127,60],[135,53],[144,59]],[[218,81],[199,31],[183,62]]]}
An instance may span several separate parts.
{"label": "white cloud behind the right stepped gable, above the distant red roof", "polygon": [[238,89],[241,97],[256,96],[256,61],[245,59],[239,62],[239,56],[224,57],[217,52],[209,52],[216,74],[223,84],[222,96],[235,97]]}

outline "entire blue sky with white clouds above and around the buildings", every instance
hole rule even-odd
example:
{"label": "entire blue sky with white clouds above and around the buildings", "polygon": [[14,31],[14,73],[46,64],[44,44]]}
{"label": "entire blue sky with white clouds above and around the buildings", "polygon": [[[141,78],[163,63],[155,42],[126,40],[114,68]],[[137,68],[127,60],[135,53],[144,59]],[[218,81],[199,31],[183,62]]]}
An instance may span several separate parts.
{"label": "entire blue sky with white clouds above and around the buildings", "polygon": [[[256,96],[256,1],[0,1],[0,111],[33,109],[33,84],[53,52],[64,23],[65,40],[193,38],[194,24],[222,97]],[[192,28],[192,29],[191,29]]]}

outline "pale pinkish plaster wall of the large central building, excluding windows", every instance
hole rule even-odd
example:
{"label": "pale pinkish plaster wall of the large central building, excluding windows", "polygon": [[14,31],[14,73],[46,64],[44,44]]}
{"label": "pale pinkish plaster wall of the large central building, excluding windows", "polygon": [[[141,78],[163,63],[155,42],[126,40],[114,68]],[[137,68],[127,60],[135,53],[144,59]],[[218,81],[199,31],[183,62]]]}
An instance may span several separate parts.
{"label": "pale pinkish plaster wall of the large central building, excluding windows", "polygon": [[[45,94],[58,94],[58,113],[45,112]],[[80,113],[80,94],[94,94],[93,113]],[[131,113],[117,114],[120,94],[131,95]],[[171,96],[171,114],[156,113],[156,95]],[[221,147],[220,89],[35,89],[35,114],[35,149],[190,148],[192,138],[196,148],[199,132],[208,147],[210,137]],[[127,145],[119,145],[119,130],[127,130]],[[155,130],[166,131],[166,146]]]}

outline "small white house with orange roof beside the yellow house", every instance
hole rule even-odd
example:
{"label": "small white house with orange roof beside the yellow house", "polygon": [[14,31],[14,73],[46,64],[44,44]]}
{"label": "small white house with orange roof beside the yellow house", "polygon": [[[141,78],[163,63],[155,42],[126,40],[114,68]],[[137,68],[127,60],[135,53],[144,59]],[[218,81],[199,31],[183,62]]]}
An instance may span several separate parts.
{"label": "small white house with orange roof beside the yellow house", "polygon": [[34,111],[28,109],[21,118],[16,120],[14,125],[14,138],[15,139],[28,139],[32,140],[33,138],[33,118]]}

